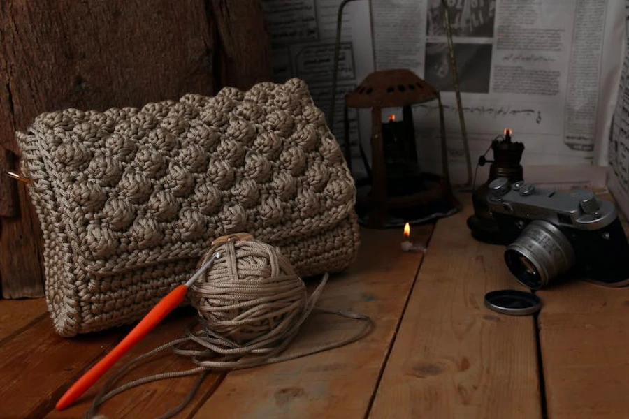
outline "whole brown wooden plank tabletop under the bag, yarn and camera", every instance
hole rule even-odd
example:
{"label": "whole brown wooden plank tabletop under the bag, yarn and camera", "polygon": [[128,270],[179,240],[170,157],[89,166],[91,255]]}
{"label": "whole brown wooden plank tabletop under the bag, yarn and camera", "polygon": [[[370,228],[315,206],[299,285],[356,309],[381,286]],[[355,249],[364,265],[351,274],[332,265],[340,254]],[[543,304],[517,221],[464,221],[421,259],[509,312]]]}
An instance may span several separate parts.
{"label": "whole brown wooden plank tabletop under the bag, yarn and camera", "polygon": [[[368,314],[375,329],[332,351],[229,374],[210,374],[178,417],[629,418],[629,288],[568,281],[540,291],[539,316],[512,317],[484,294],[520,288],[503,247],[476,242],[463,212],[415,227],[428,251],[400,251],[398,230],[362,230],[359,260],[331,278],[320,307]],[[182,336],[194,313],[174,312],[126,359]],[[290,350],[360,325],[312,316]],[[103,379],[63,412],[55,402],[129,328],[62,339],[42,300],[0,301],[1,418],[77,418]],[[122,363],[122,362],[121,362]],[[190,367],[168,353],[137,378]],[[142,385],[106,402],[108,418],[154,418],[196,377]]]}

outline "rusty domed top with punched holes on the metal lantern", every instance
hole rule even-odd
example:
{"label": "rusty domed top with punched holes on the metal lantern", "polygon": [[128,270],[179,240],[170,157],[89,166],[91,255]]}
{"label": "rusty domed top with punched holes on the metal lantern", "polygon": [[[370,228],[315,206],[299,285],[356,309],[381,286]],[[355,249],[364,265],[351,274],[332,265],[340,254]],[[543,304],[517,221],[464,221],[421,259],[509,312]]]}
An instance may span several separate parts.
{"label": "rusty domed top with punched holes on the metal lantern", "polygon": [[438,96],[438,91],[410,70],[385,70],[370,73],[345,96],[345,105],[349,108],[391,108],[432,101]]}

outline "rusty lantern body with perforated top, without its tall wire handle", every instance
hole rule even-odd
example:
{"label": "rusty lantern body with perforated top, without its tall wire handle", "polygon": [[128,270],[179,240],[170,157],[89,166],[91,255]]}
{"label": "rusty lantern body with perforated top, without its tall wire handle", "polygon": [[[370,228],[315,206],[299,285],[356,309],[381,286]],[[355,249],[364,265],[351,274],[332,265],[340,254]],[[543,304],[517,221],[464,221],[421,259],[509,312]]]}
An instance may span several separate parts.
{"label": "rusty lantern body with perforated top, without its tall wire handle", "polygon": [[[441,156],[442,173],[419,172],[418,182],[432,184],[428,189],[411,191],[406,194],[391,196],[387,186],[388,173],[385,163],[386,152],[383,135],[382,109],[402,108],[403,126],[405,128],[405,140],[407,145],[407,159],[417,163],[415,150],[414,119],[412,105],[428,101],[438,101],[441,125]],[[421,207],[434,201],[452,201],[451,186],[449,182],[449,170],[447,160],[447,148],[445,139],[445,126],[443,107],[439,91],[419,78],[415,73],[407,69],[376,71],[370,73],[354,91],[345,96],[345,159],[352,168],[351,146],[349,144],[349,108],[371,108],[371,147],[372,164],[370,169],[371,190],[368,196],[357,197],[357,209],[366,210],[368,226],[380,228],[386,223],[390,210]],[[391,166],[389,166],[389,171]]]}

